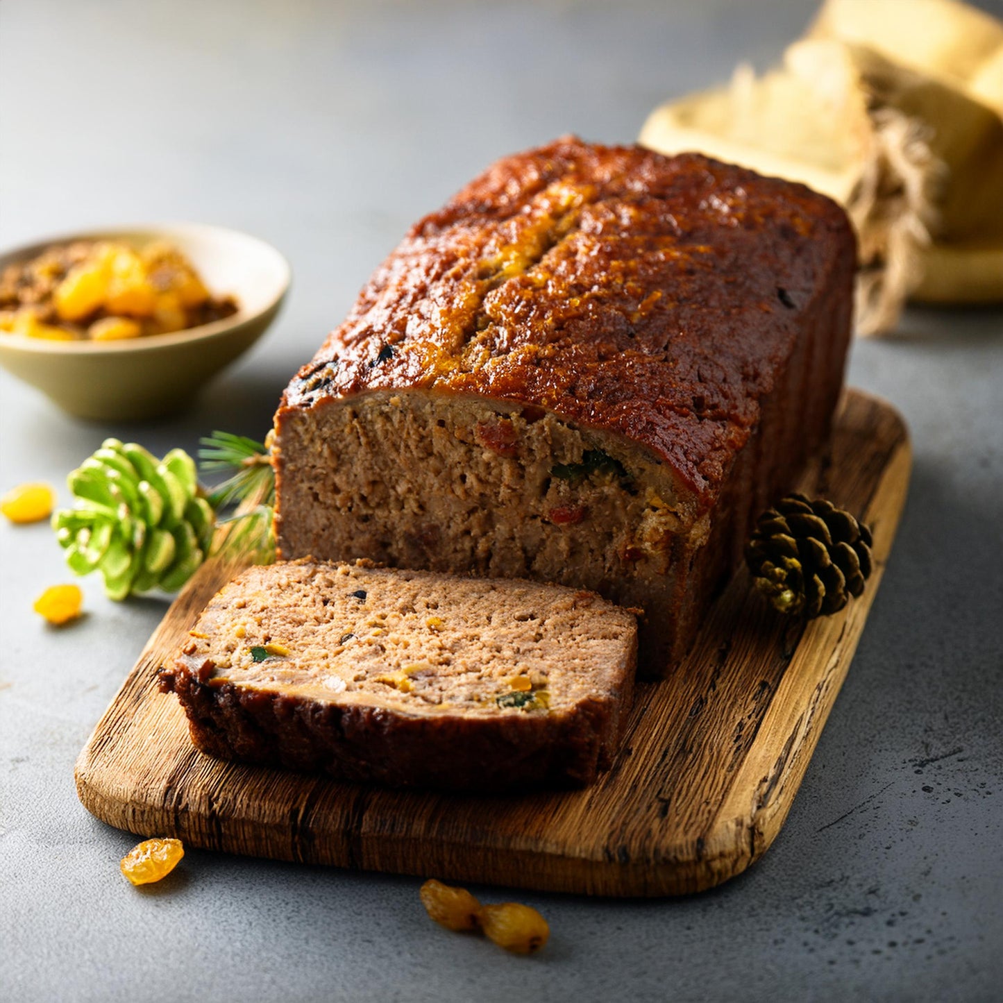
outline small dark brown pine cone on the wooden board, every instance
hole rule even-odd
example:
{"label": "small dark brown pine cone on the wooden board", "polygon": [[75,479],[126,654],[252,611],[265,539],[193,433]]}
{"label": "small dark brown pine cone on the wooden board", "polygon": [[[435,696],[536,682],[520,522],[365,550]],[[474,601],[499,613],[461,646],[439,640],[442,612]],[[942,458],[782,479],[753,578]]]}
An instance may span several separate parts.
{"label": "small dark brown pine cone on the wooden board", "polygon": [[759,517],[745,549],[753,584],[781,613],[842,610],[871,574],[871,531],[822,498],[788,494]]}

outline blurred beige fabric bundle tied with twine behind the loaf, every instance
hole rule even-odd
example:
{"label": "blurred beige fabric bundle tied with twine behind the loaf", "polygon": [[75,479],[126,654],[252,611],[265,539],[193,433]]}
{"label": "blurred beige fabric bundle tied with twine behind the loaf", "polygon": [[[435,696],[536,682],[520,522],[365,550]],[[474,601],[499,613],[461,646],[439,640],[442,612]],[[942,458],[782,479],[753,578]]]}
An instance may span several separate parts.
{"label": "blurred beige fabric bundle tied with twine behind the loaf", "polygon": [[699,149],[841,202],[858,330],[907,297],[1003,300],[1003,25],[954,0],[828,0],[762,76],[656,109],[640,141]]}

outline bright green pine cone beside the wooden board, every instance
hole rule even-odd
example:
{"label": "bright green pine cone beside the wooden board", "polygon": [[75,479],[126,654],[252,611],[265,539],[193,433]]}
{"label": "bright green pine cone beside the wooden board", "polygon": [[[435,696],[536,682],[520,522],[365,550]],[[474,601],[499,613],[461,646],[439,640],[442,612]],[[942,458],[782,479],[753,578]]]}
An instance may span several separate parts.
{"label": "bright green pine cone beside the wooden board", "polygon": [[53,515],[56,539],[74,573],[101,573],[111,599],[175,592],[209,553],[216,514],[184,449],[158,460],[134,442],[108,438],[67,483],[76,501]]}

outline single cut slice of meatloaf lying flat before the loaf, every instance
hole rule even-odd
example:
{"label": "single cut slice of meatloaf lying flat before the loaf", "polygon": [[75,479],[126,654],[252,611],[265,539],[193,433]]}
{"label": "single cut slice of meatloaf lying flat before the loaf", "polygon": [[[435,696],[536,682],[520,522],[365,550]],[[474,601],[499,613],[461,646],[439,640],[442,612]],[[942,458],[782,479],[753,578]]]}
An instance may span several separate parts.
{"label": "single cut slice of meatloaf lying flat before the loaf", "polygon": [[305,560],[239,575],[161,676],[215,755],[527,789],[609,765],[636,652],[634,617],[594,593]]}

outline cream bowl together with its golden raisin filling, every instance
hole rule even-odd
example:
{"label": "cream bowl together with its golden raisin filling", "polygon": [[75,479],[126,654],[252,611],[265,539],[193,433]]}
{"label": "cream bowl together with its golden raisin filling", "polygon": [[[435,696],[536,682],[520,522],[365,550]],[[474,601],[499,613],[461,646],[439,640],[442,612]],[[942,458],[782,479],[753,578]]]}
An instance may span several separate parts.
{"label": "cream bowl together with its golden raisin filling", "polygon": [[275,319],[290,271],[234,230],[175,224],[0,255],[0,365],[81,418],[177,411]]}

